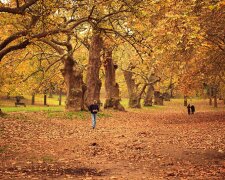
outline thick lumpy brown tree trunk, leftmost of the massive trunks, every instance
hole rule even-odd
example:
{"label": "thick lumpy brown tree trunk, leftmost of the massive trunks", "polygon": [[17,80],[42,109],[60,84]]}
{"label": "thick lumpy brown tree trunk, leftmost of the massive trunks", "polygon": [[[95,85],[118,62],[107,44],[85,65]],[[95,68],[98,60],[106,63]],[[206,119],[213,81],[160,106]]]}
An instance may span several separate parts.
{"label": "thick lumpy brown tree trunk, leftmost of the massive trunks", "polygon": [[64,80],[66,83],[66,110],[80,111],[84,110],[83,104],[83,75],[73,60],[72,55],[68,55],[65,59],[64,69],[62,70]]}

